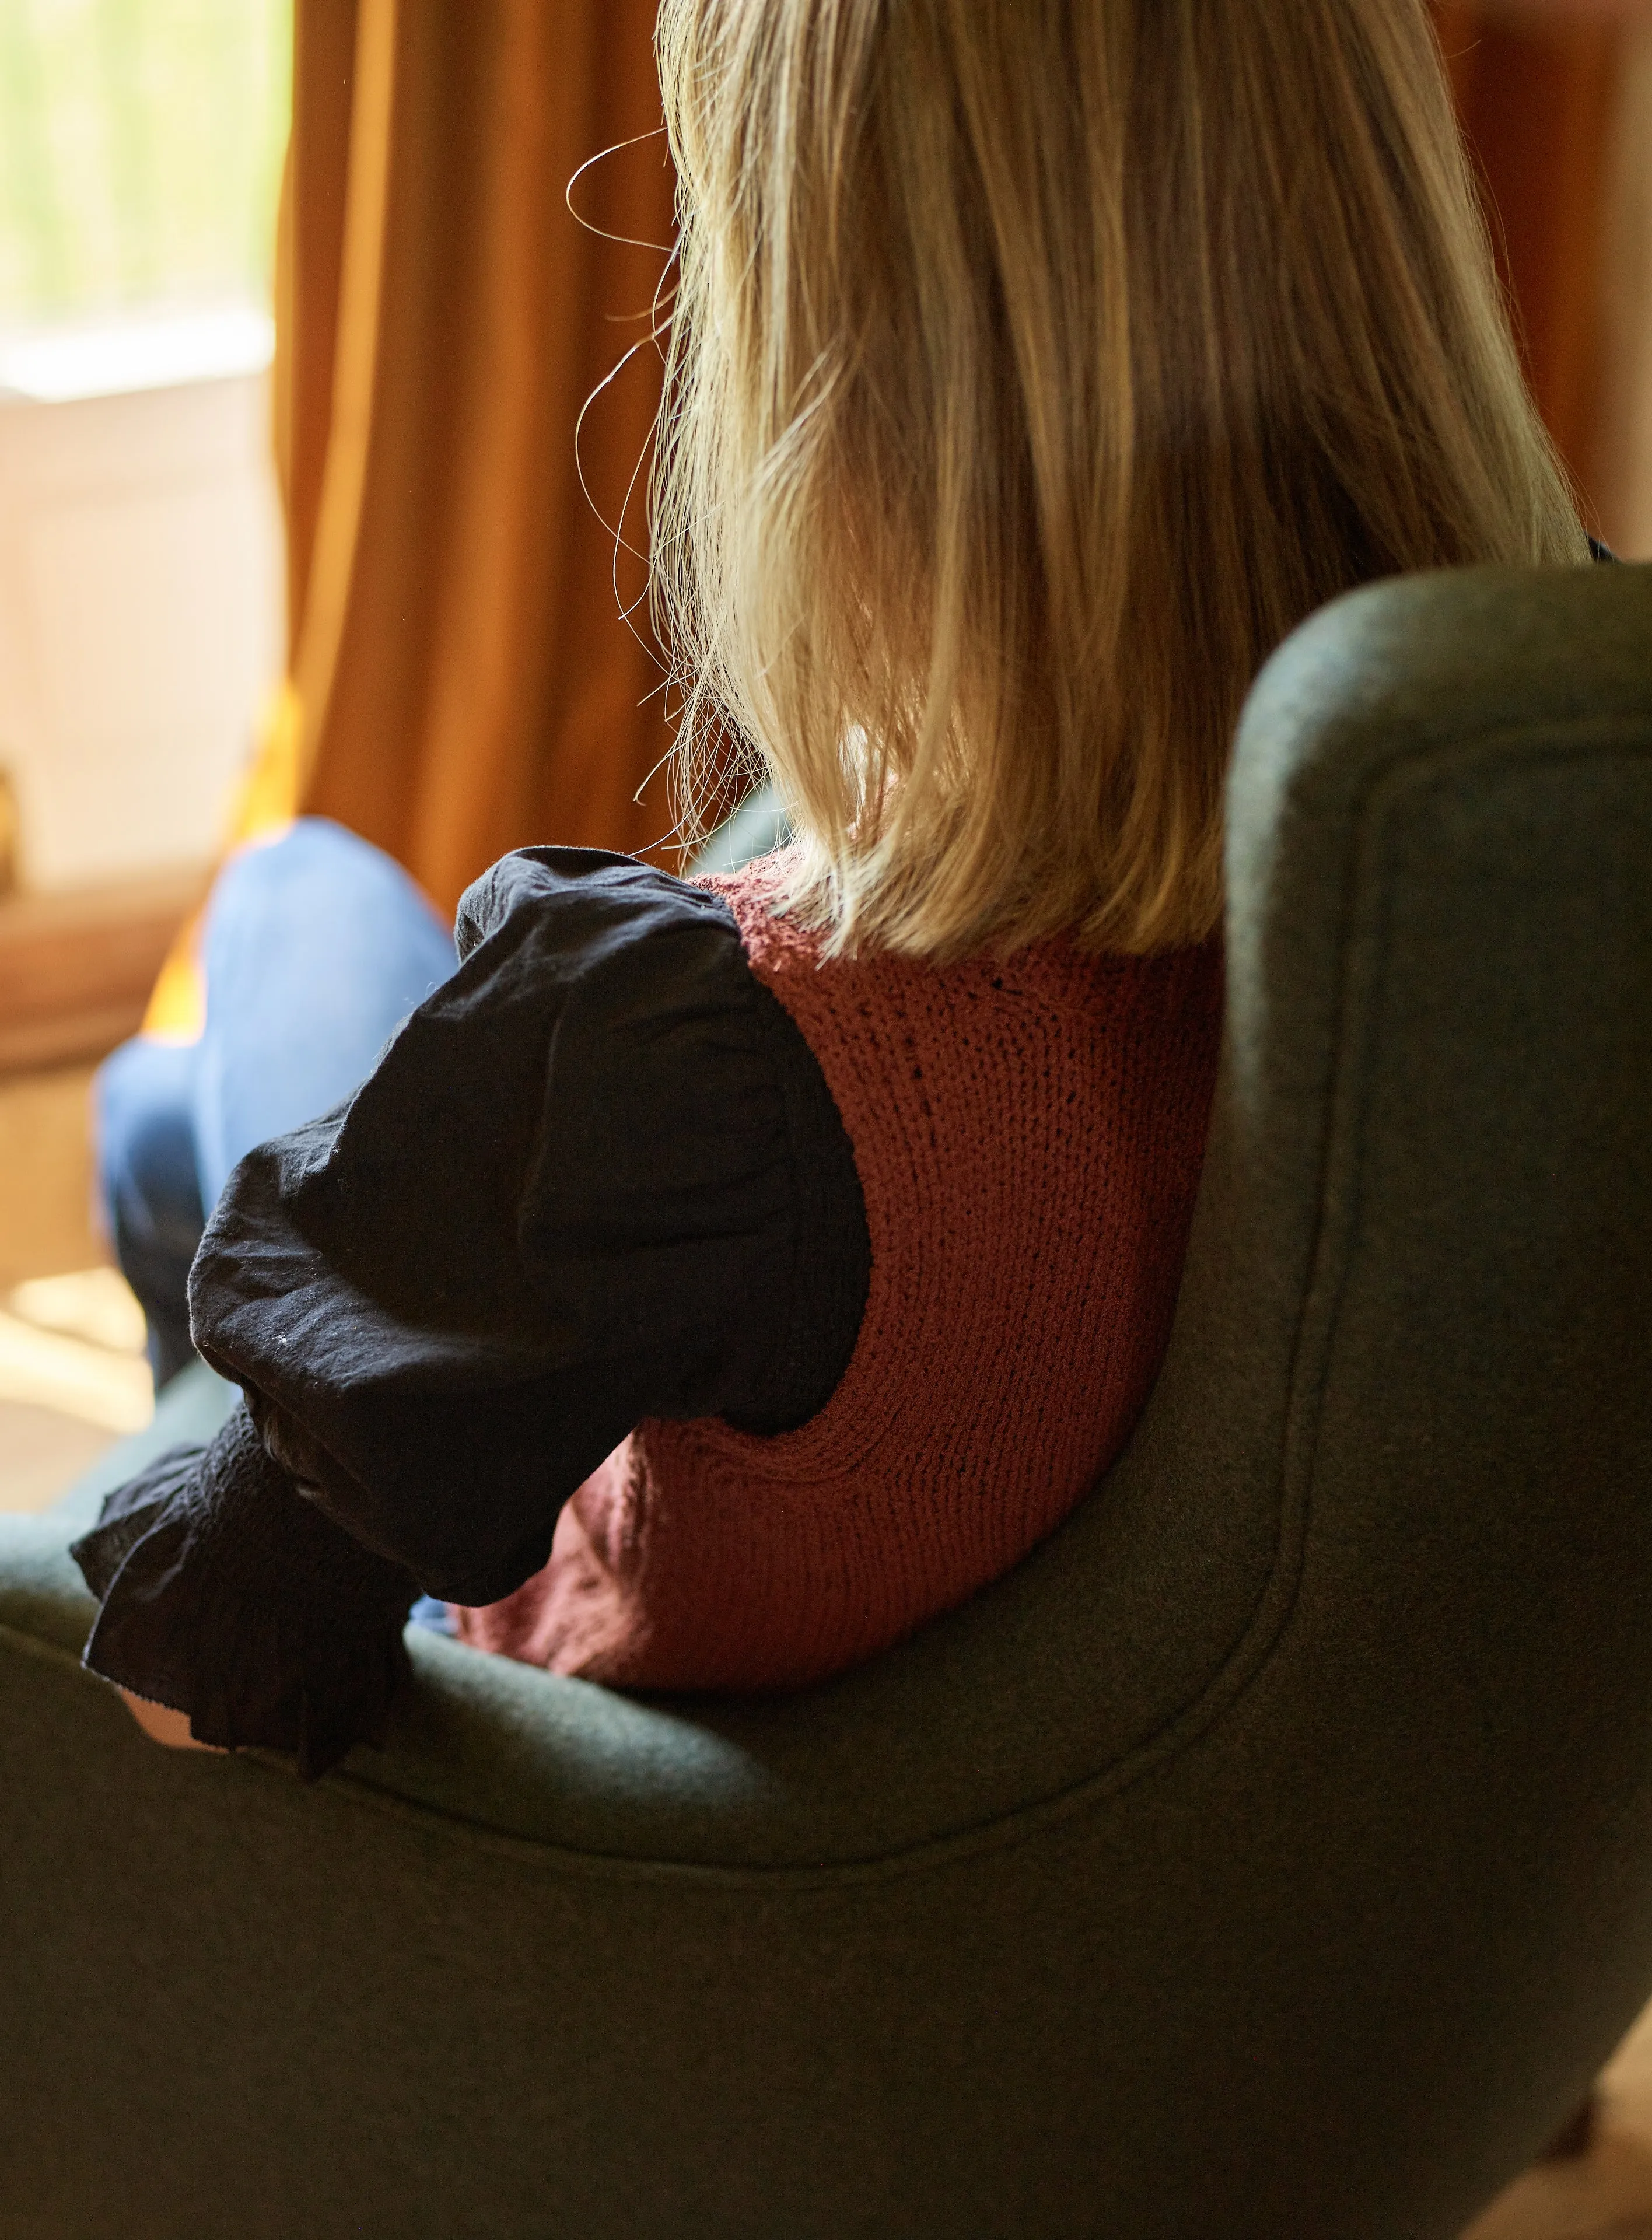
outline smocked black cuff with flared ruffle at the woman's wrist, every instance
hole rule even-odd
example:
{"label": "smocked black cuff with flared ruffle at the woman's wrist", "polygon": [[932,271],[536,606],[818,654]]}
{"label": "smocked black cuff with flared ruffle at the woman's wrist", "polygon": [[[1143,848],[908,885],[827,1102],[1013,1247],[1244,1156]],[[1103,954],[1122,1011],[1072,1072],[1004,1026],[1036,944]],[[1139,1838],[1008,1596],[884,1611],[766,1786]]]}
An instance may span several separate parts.
{"label": "smocked black cuff with flared ruffle at the woman's wrist", "polygon": [[101,1602],[87,1669],[188,1714],[197,1743],[291,1749],[313,1781],[383,1740],[419,1586],[298,1492],[246,1407],[110,1494],[69,1552]]}

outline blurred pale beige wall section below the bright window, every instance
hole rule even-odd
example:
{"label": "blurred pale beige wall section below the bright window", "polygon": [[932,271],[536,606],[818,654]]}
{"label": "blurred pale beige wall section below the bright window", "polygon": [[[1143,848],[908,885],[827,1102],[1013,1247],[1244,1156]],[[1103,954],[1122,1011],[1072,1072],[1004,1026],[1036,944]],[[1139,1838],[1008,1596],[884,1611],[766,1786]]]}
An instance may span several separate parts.
{"label": "blurred pale beige wall section below the bright window", "polygon": [[31,887],[213,853],[282,654],[266,376],[0,399],[0,766]]}

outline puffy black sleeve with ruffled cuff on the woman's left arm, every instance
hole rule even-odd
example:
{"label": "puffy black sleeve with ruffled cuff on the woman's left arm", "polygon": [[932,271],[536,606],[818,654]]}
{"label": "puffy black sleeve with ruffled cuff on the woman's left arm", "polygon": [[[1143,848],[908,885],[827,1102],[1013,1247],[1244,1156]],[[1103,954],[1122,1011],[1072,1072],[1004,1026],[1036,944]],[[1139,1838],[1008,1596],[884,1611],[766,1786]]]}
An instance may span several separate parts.
{"label": "puffy black sleeve with ruffled cuff on the woman's left arm", "polygon": [[535,849],[459,954],[208,1223],[193,1333],[251,1416],[76,1550],[92,1669],[309,1770],[376,1736],[416,1590],[508,1595],[645,1416],[804,1422],[866,1299],[842,1120],[721,898]]}

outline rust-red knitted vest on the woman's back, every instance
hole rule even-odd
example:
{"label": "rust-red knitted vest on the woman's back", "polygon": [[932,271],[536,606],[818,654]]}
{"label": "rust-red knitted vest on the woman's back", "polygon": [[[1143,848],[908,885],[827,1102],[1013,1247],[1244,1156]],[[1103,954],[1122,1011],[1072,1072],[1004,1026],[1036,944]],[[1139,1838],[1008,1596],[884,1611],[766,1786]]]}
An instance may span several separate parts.
{"label": "rust-red knitted vest on the woman's back", "polygon": [[801,1429],[642,1422],[548,1566],[461,1633],[649,1689],[869,1658],[1010,1570],[1124,1445],[1171,1328],[1220,1035],[1215,948],[822,961],[772,869],[707,880],[819,1060],[871,1288]]}

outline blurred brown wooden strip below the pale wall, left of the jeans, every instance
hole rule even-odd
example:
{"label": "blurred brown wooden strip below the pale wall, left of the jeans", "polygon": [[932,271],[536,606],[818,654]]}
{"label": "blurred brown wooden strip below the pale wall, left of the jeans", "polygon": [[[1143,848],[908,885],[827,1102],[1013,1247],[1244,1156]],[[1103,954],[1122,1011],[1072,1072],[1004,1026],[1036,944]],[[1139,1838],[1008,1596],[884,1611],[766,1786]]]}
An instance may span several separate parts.
{"label": "blurred brown wooden strip below the pale wall, left of the jeans", "polygon": [[0,903],[0,1077],[105,1057],[137,1033],[161,959],[206,885],[206,869],[190,865]]}

